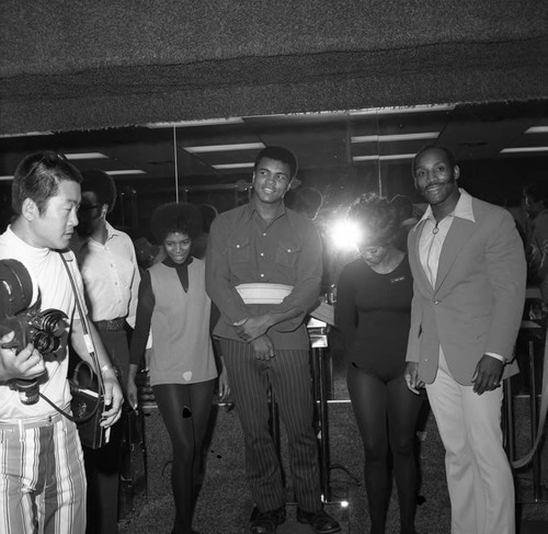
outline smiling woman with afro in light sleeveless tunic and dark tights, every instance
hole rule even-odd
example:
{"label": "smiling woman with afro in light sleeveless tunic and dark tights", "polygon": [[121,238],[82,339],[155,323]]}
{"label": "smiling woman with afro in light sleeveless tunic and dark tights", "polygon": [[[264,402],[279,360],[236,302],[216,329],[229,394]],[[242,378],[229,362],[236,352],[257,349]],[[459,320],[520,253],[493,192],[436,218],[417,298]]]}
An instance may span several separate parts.
{"label": "smiling woman with afro in light sleeveless tunic and dark tights", "polygon": [[[170,203],[152,213],[151,225],[164,258],[147,270],[139,285],[127,395],[136,408],[135,376],[151,329],[150,385],[173,448],[172,534],[191,534],[203,441],[217,377],[205,264],[191,254],[192,241],[202,230],[202,217],[197,206]],[[224,368],[219,394],[228,395]]]}

